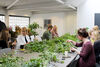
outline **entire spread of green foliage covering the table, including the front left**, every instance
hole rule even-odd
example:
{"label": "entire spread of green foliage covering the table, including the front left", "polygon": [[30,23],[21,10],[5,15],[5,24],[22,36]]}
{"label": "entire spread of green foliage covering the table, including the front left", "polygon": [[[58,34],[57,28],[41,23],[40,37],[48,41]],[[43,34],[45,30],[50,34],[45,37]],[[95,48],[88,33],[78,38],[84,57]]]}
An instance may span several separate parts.
{"label": "entire spread of green foliage covering the table, including the front left", "polygon": [[[25,46],[25,49],[30,52],[41,53],[38,58],[23,62],[22,58],[4,55],[0,57],[0,67],[47,67],[49,62],[59,62],[57,53],[64,53],[65,51],[70,51],[71,47],[75,47],[72,43],[66,42],[68,39],[79,42],[76,35],[68,33],[53,40],[31,42]],[[64,62],[60,61],[60,63]]]}

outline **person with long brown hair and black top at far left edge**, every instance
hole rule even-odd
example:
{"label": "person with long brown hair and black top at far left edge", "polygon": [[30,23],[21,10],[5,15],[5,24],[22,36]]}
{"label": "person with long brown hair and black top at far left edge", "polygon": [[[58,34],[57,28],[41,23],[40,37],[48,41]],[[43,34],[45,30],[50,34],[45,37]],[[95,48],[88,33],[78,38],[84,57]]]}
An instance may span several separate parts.
{"label": "person with long brown hair and black top at far left edge", "polygon": [[0,49],[8,48],[8,34],[7,29],[0,32]]}

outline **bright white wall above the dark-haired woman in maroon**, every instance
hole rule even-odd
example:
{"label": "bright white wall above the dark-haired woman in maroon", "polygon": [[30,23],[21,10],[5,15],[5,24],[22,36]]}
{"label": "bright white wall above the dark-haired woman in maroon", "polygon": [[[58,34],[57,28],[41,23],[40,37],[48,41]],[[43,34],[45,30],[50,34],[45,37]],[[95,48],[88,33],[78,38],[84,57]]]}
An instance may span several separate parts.
{"label": "bright white wall above the dark-haired woman in maroon", "polygon": [[78,6],[77,10],[77,28],[94,26],[94,15],[100,13],[100,0],[86,0]]}

